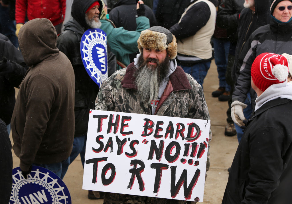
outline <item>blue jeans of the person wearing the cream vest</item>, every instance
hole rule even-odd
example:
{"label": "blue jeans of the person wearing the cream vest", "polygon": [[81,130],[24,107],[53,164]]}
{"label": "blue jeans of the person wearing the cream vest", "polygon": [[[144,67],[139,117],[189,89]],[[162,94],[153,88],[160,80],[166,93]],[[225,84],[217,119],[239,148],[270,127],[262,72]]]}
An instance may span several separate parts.
{"label": "blue jeans of the person wearing the cream vest", "polygon": [[211,62],[199,62],[191,67],[187,67],[178,63],[178,66],[182,67],[185,73],[192,75],[194,79],[201,85],[202,88],[204,79],[207,75],[210,65]]}

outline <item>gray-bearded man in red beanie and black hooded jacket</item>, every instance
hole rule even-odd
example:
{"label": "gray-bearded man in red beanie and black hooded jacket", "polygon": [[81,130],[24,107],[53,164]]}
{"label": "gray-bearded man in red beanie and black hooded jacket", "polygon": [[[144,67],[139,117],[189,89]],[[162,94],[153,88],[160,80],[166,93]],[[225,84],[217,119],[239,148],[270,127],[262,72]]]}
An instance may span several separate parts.
{"label": "gray-bearded man in red beanie and black hooded jacket", "polygon": [[[64,32],[57,40],[57,48],[69,58],[75,74],[75,132],[73,149],[69,156],[70,164],[80,154],[84,166],[89,109],[94,108],[95,97],[99,90],[98,85],[88,76],[84,68],[80,41],[87,29],[101,26],[99,19],[101,12],[100,0],[74,0],[71,10],[73,19],[64,25]],[[88,198],[96,199],[92,191],[88,191]]]}

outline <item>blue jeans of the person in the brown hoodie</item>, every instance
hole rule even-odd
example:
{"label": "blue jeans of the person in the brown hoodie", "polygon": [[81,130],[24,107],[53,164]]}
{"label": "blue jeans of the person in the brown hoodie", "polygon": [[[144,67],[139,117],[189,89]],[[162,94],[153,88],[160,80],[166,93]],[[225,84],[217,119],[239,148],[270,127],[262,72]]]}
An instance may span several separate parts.
{"label": "blue jeans of the person in the brown hoodie", "polygon": [[69,158],[67,158],[61,162],[53,163],[53,164],[33,163],[32,165],[44,167],[44,168],[50,170],[51,172],[54,172],[58,177],[60,177],[60,179],[63,179],[67,170],[68,170],[68,167],[69,167]]}

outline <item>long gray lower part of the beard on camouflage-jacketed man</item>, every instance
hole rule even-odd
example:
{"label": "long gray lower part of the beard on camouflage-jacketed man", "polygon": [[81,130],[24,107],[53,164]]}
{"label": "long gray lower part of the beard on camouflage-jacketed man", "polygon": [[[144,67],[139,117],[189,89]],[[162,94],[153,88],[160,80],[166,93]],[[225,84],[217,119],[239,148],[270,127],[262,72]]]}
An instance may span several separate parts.
{"label": "long gray lower part of the beard on camouflage-jacketed man", "polygon": [[140,67],[136,73],[135,84],[138,88],[138,95],[145,106],[150,105],[153,99],[158,98],[159,80],[158,69],[149,69],[147,65]]}

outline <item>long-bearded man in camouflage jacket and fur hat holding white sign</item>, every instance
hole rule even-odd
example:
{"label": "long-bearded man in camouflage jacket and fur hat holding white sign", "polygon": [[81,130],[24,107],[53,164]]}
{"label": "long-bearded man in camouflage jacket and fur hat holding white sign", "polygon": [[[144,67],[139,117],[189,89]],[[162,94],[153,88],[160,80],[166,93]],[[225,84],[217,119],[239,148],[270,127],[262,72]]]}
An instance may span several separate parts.
{"label": "long-bearded man in camouflage jacket and fur hat holding white sign", "polygon": [[[134,62],[127,68],[116,71],[102,83],[95,101],[95,109],[209,120],[201,86],[176,64],[175,36],[164,27],[154,26],[141,32],[138,48],[140,54]],[[206,171],[209,165],[207,159]],[[104,203],[125,202],[186,201],[105,193]]]}

